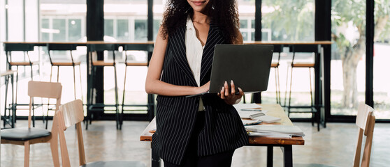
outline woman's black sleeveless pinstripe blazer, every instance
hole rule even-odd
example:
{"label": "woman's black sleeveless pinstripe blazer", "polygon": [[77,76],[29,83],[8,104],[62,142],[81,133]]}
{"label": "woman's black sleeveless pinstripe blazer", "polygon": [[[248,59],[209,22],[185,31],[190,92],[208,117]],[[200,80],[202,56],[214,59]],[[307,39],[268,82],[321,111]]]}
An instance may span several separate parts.
{"label": "woman's black sleeveless pinstripe blazer", "polygon": [[[170,34],[164,58],[161,81],[178,86],[197,86],[189,67],[185,49],[186,27]],[[201,61],[201,85],[210,81],[214,47],[225,43],[222,31],[210,24]],[[236,109],[215,96],[202,97],[205,127],[198,138],[198,155],[217,154],[240,148],[248,142],[243,122]],[[157,131],[152,147],[164,161],[180,164],[194,129],[199,97],[157,96]]]}

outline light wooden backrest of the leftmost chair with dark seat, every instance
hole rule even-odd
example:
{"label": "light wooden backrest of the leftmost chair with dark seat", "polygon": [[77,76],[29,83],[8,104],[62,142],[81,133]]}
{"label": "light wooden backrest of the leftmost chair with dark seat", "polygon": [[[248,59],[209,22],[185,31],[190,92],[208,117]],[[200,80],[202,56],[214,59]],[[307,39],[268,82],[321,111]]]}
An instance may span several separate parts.
{"label": "light wooden backrest of the leftmost chair with dark seat", "polygon": [[31,127],[31,110],[34,97],[43,97],[57,100],[55,104],[56,111],[61,104],[62,85],[58,82],[29,81],[28,95],[29,103],[29,128]]}

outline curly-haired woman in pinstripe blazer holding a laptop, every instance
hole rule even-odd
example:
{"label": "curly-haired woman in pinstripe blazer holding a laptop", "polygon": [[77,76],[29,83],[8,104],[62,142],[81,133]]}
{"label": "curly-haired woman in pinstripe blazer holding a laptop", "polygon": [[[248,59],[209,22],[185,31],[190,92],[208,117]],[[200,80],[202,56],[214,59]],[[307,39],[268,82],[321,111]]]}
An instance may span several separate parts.
{"label": "curly-haired woman in pinstripe blazer holding a laptop", "polygon": [[234,0],[167,2],[145,86],[158,95],[152,147],[166,167],[231,166],[248,142],[233,81],[218,95],[185,97],[208,90],[215,45],[243,43],[236,9]]}

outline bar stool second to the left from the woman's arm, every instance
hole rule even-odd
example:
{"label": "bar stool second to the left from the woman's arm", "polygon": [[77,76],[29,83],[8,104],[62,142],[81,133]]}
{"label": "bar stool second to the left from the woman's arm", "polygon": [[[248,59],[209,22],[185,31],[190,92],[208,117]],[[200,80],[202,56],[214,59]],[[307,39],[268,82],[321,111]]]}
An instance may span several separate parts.
{"label": "bar stool second to the left from the woman's arm", "polygon": [[[91,83],[89,86],[89,100],[88,100],[88,112],[87,112],[87,123],[86,123],[86,129],[88,129],[88,120],[89,124],[92,122],[92,115],[93,113],[91,111],[115,111],[116,116],[116,122],[117,122],[117,129],[120,129],[120,118],[119,118],[119,101],[118,101],[118,86],[117,86],[117,67],[115,63],[115,51],[118,50],[118,45],[115,44],[91,44],[87,45],[89,49],[89,61],[91,62]],[[113,62],[106,62],[106,61],[96,61],[92,52],[94,51],[112,51],[113,53]],[[115,77],[115,104],[104,104],[104,103],[96,103],[94,101],[94,85],[96,84],[94,82],[94,79],[96,79],[96,69],[98,67],[114,67],[114,77]],[[115,110],[113,109],[104,109],[105,106],[114,106]]]}

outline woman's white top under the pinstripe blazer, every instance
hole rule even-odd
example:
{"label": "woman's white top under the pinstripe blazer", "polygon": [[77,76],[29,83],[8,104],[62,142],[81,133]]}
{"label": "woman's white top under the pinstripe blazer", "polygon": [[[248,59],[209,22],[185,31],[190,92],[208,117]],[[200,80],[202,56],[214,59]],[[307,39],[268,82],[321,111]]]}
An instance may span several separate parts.
{"label": "woman's white top under the pinstripe blazer", "polygon": [[[200,86],[201,84],[201,63],[202,63],[202,56],[203,56],[203,49],[204,46],[202,46],[202,43],[198,38],[196,37],[196,30],[194,27],[194,24],[192,23],[191,17],[187,17],[187,30],[185,31],[185,47],[186,47],[186,53],[187,53],[187,61],[189,64],[189,67],[192,70],[192,74],[194,74],[194,78],[196,81],[196,84]],[[198,111],[203,111],[203,101],[202,98],[199,97],[199,107]]]}

